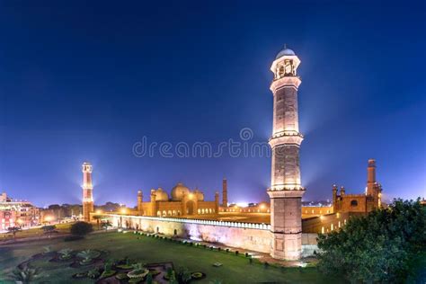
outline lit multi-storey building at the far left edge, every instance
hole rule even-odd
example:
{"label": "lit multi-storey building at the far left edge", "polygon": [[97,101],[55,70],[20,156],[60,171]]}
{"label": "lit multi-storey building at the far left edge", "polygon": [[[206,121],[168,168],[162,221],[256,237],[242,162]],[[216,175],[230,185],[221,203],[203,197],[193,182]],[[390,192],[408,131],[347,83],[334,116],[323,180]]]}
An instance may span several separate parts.
{"label": "lit multi-storey building at the far left edge", "polygon": [[26,200],[13,200],[5,192],[0,195],[0,231],[10,226],[30,227],[40,224],[39,209]]}

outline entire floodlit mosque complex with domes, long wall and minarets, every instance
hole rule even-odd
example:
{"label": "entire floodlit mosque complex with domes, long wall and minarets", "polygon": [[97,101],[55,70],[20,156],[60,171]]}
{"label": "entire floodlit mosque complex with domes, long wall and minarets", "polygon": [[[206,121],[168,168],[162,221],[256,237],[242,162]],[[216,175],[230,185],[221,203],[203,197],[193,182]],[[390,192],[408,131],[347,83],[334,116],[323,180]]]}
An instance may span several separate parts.
{"label": "entire floodlit mosque complex with domes, long wall and minarets", "polygon": [[[333,186],[333,204],[302,206],[299,150],[304,139],[299,132],[297,92],[301,79],[297,75],[300,59],[287,47],[280,50],[271,64],[273,79],[273,128],[271,146],[271,186],[266,190],[271,202],[248,208],[229,206],[227,183],[223,181],[222,203],[218,192],[214,201],[205,201],[202,191],[191,191],[177,183],[170,196],[159,188],[150,191],[149,201],[138,191],[135,211],[102,213],[113,226],[138,229],[152,234],[174,235],[190,240],[225,244],[281,260],[299,260],[315,252],[319,233],[338,230],[353,215],[366,214],[381,206],[382,188],[376,182],[376,161],[368,160],[365,193],[338,193]],[[83,164],[84,219],[93,213],[92,165]],[[247,216],[257,213],[261,221]],[[225,218],[223,216],[234,215]],[[241,217],[241,218],[239,218]]]}

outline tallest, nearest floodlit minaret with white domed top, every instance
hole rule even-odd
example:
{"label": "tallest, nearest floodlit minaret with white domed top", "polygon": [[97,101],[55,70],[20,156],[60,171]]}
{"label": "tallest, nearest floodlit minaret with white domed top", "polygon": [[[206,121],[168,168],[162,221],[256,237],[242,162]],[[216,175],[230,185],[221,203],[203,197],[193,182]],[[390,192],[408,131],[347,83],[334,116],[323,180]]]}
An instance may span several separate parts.
{"label": "tallest, nearest floodlit minaret with white domed top", "polygon": [[302,250],[302,195],[299,147],[303,136],[298,132],[297,76],[299,58],[284,47],[272,62],[274,78],[271,188],[271,256],[297,260]]}

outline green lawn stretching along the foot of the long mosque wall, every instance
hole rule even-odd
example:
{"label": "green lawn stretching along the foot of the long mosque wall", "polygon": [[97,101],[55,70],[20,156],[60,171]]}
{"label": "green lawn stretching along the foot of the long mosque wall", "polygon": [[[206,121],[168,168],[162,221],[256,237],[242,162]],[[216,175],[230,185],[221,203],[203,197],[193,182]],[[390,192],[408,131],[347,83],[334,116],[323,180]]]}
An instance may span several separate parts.
{"label": "green lawn stretching along the foot of the long mosque wall", "polygon": [[[139,238],[139,239],[138,239]],[[140,262],[173,262],[174,267],[188,267],[190,271],[203,271],[207,274],[204,280],[193,283],[209,283],[211,280],[222,280],[222,283],[335,283],[336,280],[325,279],[315,268],[264,268],[262,264],[250,264],[243,256],[234,253],[210,251],[202,247],[178,244],[143,235],[104,233],[88,235],[85,240],[64,242],[63,239],[43,240],[24,244],[0,246],[0,271],[8,275],[20,262],[31,258],[31,255],[43,252],[43,246],[51,245],[52,250],[62,248],[73,250],[97,249],[109,252],[107,257],[120,259],[129,257]],[[212,263],[221,262],[223,266],[213,267]],[[72,280],[70,277],[81,269],[70,268],[67,264],[38,260],[34,266],[44,271],[39,281],[51,283],[90,283],[90,280]],[[68,263],[69,264],[69,263]],[[87,269],[85,269],[87,270]],[[1,278],[1,277],[0,277]],[[1,282],[1,281],[0,281]]]}

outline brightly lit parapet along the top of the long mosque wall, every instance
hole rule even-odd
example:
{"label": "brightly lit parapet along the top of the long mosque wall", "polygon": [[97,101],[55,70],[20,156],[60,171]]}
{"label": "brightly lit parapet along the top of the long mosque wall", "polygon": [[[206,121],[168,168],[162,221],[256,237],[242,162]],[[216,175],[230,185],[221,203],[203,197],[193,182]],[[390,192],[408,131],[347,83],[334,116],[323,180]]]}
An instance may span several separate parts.
{"label": "brightly lit parapet along the top of the long mosque wall", "polygon": [[186,218],[180,218],[180,217],[150,217],[150,216],[119,215],[119,214],[103,214],[103,216],[126,217],[126,218],[131,217],[135,219],[160,221],[160,222],[175,222],[175,223],[199,224],[199,225],[209,225],[209,226],[232,226],[232,227],[242,227],[247,229],[271,230],[271,225],[267,225],[263,223],[262,224],[240,223],[240,222],[203,220],[203,219],[186,219]]}

